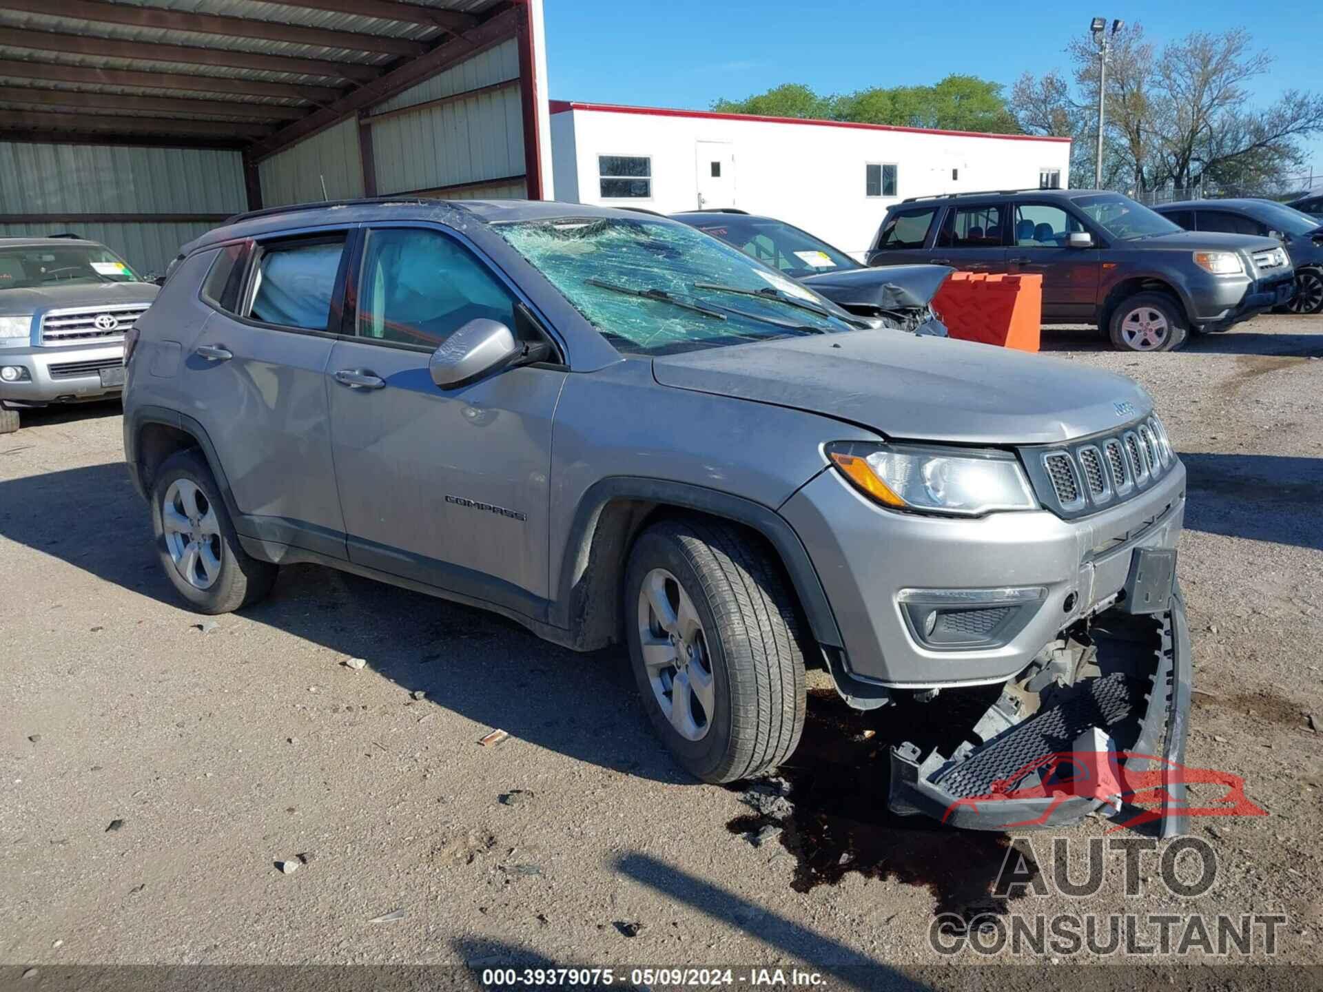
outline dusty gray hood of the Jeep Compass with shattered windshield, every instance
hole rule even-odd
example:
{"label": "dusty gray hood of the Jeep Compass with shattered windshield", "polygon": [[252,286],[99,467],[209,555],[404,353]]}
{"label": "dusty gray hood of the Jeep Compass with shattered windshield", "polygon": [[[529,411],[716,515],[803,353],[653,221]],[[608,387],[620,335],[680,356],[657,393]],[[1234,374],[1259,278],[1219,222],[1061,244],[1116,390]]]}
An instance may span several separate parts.
{"label": "dusty gray hood of the Jeep Compass with shattered windshield", "polygon": [[1125,376],[1008,348],[855,331],[652,360],[664,386],[807,410],[888,438],[1045,444],[1152,410]]}

